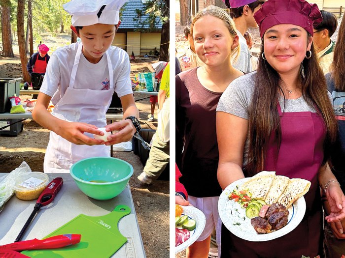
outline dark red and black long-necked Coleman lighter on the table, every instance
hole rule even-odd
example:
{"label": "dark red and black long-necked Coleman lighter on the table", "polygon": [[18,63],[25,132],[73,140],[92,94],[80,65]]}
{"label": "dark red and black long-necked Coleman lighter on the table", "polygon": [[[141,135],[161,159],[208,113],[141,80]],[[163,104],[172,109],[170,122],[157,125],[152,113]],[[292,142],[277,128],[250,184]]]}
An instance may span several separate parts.
{"label": "dark red and black long-necked Coleman lighter on the table", "polygon": [[31,213],[29,219],[25,223],[23,229],[20,231],[19,235],[17,236],[16,240],[14,242],[20,241],[22,238],[25,230],[28,228],[32,220],[34,219],[36,213],[38,210],[45,205],[48,205],[50,202],[52,202],[57,195],[57,193],[60,191],[62,185],[64,183],[64,180],[62,177],[55,177],[54,180],[52,180],[46,188],[43,190],[41,195],[38,197],[38,200],[36,201],[34,211]]}

